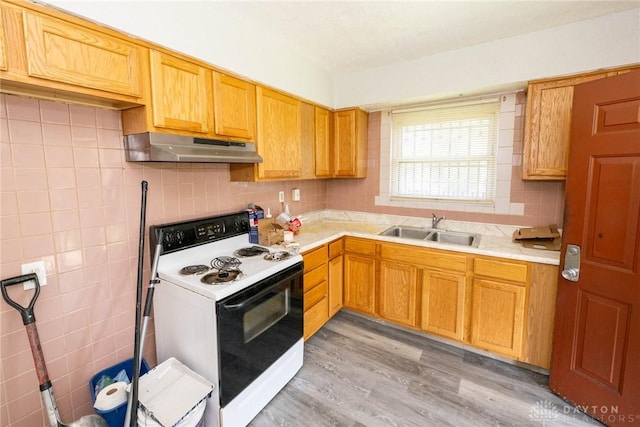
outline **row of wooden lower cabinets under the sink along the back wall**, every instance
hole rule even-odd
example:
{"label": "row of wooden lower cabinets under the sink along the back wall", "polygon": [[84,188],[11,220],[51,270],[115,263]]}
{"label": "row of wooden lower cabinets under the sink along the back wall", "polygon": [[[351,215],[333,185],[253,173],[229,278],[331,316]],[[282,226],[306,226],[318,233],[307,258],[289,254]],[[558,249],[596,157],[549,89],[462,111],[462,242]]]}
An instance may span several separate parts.
{"label": "row of wooden lower cabinets under the sink along the back wall", "polygon": [[549,368],[558,268],[345,237],[344,307]]}

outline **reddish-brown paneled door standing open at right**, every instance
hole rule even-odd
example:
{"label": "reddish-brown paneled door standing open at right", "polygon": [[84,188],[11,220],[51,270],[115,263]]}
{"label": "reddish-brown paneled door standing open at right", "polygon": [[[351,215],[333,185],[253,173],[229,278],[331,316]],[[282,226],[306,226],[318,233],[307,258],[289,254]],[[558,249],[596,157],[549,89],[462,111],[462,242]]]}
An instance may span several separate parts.
{"label": "reddish-brown paneled door standing open at right", "polygon": [[640,71],[574,91],[551,389],[610,426],[640,425]]}

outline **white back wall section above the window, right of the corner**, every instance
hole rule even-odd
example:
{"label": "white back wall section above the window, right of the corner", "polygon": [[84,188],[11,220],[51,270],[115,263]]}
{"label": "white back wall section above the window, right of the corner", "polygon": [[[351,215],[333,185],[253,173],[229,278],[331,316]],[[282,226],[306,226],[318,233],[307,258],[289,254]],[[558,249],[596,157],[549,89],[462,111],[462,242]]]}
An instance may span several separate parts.
{"label": "white back wall section above the window, right of the corner", "polygon": [[640,9],[341,76],[334,106],[380,109],[633,63],[640,63]]}

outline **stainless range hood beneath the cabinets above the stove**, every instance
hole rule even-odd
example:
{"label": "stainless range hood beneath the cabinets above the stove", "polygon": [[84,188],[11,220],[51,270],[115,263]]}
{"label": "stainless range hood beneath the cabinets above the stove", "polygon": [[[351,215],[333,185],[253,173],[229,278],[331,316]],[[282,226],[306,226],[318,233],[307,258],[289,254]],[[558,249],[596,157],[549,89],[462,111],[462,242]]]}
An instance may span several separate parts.
{"label": "stainless range hood beneath the cabinets above the stove", "polygon": [[124,147],[128,162],[262,163],[251,142],[145,132],[126,135]]}

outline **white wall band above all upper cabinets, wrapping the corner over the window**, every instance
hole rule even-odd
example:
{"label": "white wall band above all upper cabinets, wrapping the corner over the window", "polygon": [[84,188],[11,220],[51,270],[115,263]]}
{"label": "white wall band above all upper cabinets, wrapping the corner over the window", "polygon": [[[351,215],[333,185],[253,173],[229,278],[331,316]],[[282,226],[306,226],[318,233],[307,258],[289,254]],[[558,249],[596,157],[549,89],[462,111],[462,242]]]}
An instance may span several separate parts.
{"label": "white wall band above all upper cabinets, wrapping the corner over the window", "polygon": [[640,8],[333,79],[224,2],[45,2],[336,108],[515,89],[530,79],[640,63]]}

